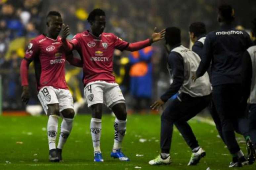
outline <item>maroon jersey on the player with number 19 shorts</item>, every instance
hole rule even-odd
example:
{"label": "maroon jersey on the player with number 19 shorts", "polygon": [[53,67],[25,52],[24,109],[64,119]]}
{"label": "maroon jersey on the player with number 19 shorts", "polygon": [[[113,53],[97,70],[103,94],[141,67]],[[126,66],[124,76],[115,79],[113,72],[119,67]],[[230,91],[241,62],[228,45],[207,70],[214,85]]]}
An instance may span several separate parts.
{"label": "maroon jersey on the player with number 19 shorts", "polygon": [[29,43],[25,59],[34,60],[38,90],[43,86],[67,89],[64,70],[66,55],[60,37],[54,40],[45,35],[37,36]]}

